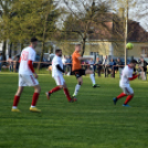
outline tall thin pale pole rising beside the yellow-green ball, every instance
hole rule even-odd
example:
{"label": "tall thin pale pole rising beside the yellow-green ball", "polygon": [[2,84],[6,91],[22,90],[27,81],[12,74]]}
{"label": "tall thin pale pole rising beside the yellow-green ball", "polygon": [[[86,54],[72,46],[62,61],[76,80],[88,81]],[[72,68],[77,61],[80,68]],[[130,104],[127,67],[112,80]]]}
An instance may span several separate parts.
{"label": "tall thin pale pole rising beside the yellow-green ball", "polygon": [[128,40],[128,0],[126,0],[126,18],[125,18],[125,65],[127,64],[127,44]]}

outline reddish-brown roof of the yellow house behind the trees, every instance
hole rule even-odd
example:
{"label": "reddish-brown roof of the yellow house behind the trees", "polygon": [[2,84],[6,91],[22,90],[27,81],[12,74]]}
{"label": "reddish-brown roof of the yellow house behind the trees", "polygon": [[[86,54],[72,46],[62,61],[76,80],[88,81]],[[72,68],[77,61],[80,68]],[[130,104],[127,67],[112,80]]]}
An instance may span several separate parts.
{"label": "reddish-brown roof of the yellow house behind the trees", "polygon": [[[73,27],[72,27],[73,25]],[[77,21],[67,24],[66,29],[85,32],[85,21]],[[70,28],[70,29],[68,29]],[[72,29],[71,29],[72,28]],[[101,14],[98,20],[88,24],[87,34],[89,41],[124,41],[125,38],[124,21],[115,13]],[[67,40],[78,40],[77,35],[70,35]],[[148,32],[139,24],[139,22],[128,20],[128,42],[148,42]]]}

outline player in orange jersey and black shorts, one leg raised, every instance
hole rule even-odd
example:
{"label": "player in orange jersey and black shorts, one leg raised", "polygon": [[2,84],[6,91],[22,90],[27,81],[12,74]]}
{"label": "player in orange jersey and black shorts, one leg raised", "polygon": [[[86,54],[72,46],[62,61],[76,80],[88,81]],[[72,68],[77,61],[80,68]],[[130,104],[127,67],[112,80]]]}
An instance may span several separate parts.
{"label": "player in orange jersey and black shorts, one leg raised", "polygon": [[76,44],[75,52],[72,55],[72,71],[77,78],[77,85],[75,86],[75,92],[73,94],[73,98],[76,98],[76,95],[78,94],[78,91],[83,84],[83,78],[82,78],[83,75],[89,74],[89,77],[91,77],[92,83],[93,83],[93,87],[99,87],[99,85],[97,85],[95,82],[94,72],[89,68],[87,68],[85,71],[82,68],[82,65],[81,65],[81,61],[92,60],[92,59],[91,57],[82,57],[80,52],[81,52],[81,44]]}

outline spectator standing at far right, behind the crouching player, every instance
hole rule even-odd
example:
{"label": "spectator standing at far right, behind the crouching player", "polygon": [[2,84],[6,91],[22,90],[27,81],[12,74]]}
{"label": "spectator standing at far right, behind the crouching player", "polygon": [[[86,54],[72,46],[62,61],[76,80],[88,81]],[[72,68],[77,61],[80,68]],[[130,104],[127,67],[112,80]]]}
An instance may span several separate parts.
{"label": "spectator standing at far right, behind the crouching player", "polygon": [[147,65],[148,65],[148,64],[147,64],[147,62],[144,60],[144,57],[140,57],[138,65],[139,65],[138,71],[139,71],[139,72],[144,72],[144,73],[145,73],[145,76],[146,76],[146,80],[147,80]]}

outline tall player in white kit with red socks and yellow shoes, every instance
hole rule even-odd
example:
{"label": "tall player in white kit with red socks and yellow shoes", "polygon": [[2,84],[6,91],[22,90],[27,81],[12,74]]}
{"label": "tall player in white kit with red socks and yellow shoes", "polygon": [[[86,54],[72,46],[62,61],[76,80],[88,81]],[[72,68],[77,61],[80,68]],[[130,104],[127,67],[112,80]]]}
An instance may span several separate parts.
{"label": "tall player in white kit with red socks and yellow shoes", "polygon": [[34,72],[32,62],[35,60],[35,47],[38,45],[38,39],[32,38],[30,46],[25,47],[21,53],[20,59],[20,68],[19,68],[19,88],[17,94],[14,95],[12,112],[20,112],[18,109],[18,104],[20,101],[20,96],[23,92],[24,86],[33,86],[34,87],[34,94],[32,98],[32,104],[30,107],[31,112],[41,112],[35,107],[41,87],[38,82],[38,74]]}

